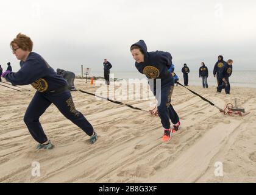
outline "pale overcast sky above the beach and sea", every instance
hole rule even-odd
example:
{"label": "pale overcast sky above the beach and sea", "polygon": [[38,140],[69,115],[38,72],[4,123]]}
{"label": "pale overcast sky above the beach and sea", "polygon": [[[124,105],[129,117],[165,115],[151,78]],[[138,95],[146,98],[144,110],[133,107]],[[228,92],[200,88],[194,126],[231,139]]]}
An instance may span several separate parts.
{"label": "pale overcast sky above the beach and sea", "polygon": [[177,69],[213,69],[222,54],[235,70],[256,70],[255,18],[255,0],[5,0],[0,64],[18,71],[9,44],[21,32],[54,69],[102,71],[107,58],[112,71],[137,71],[129,48],[143,39],[149,51],[170,52]]}

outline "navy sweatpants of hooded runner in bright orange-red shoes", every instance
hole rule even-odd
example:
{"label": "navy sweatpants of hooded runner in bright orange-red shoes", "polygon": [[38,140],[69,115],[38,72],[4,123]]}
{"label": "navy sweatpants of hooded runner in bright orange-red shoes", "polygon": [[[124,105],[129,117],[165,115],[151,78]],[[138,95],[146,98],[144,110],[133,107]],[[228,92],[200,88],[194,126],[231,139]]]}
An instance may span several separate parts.
{"label": "navy sweatpants of hooded runner in bright orange-red shoes", "polygon": [[171,96],[174,89],[174,85],[167,85],[165,87],[161,87],[161,93],[155,95],[158,101],[158,115],[161,119],[161,123],[163,128],[169,129],[170,119],[173,124],[176,124],[180,121],[179,116],[171,105]]}

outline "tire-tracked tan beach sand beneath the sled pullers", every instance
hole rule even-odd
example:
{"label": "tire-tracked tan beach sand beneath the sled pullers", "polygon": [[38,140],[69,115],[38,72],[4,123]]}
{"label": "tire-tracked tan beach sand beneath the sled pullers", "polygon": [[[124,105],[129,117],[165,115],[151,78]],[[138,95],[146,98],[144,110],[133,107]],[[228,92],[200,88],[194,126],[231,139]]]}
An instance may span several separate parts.
{"label": "tire-tracked tan beach sand beneath the sled pullers", "polygon": [[[76,88],[97,88],[76,79]],[[232,83],[231,83],[232,85]],[[175,87],[172,105],[180,116],[180,130],[162,141],[160,118],[123,105],[72,92],[76,109],[99,135],[95,144],[54,105],[40,121],[55,144],[37,151],[23,116],[35,90],[18,92],[0,86],[0,182],[256,182],[256,88],[232,87],[231,94],[216,87],[190,86],[221,108],[238,98],[246,116],[224,116],[218,109]],[[148,101],[123,101],[149,110]],[[40,163],[40,177],[32,163]],[[223,176],[215,176],[215,163]]]}

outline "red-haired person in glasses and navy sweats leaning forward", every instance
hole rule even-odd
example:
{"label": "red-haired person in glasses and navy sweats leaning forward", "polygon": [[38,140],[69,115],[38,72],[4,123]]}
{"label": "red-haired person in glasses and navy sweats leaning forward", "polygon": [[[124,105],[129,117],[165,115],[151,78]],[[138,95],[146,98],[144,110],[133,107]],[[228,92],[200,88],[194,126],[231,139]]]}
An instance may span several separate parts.
{"label": "red-haired person in glasses and navy sweats leaning forward", "polygon": [[27,129],[34,140],[38,142],[37,149],[52,149],[54,147],[44,134],[39,121],[40,116],[52,103],[66,118],[84,130],[90,136],[91,143],[94,143],[97,140],[97,133],[94,132],[93,126],[84,115],[76,110],[68,90],[68,83],[49,66],[41,55],[32,52],[32,40],[27,35],[18,34],[10,46],[16,58],[21,60],[21,68],[17,73],[5,71],[2,77],[12,85],[31,84],[37,90],[24,116]]}

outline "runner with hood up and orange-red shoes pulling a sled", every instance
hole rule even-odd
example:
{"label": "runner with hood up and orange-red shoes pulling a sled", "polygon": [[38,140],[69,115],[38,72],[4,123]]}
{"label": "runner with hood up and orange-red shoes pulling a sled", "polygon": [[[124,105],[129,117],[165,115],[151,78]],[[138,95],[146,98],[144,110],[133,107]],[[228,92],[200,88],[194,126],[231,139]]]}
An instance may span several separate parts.
{"label": "runner with hood up and orange-red shoes pulling a sled", "polygon": [[[149,87],[157,99],[158,115],[164,128],[163,141],[168,141],[180,126],[179,116],[171,105],[174,79],[168,69],[171,68],[172,56],[169,52],[148,52],[143,40],[132,44],[130,52],[136,61],[135,67],[149,79]],[[174,124],[172,128],[170,119]]]}

